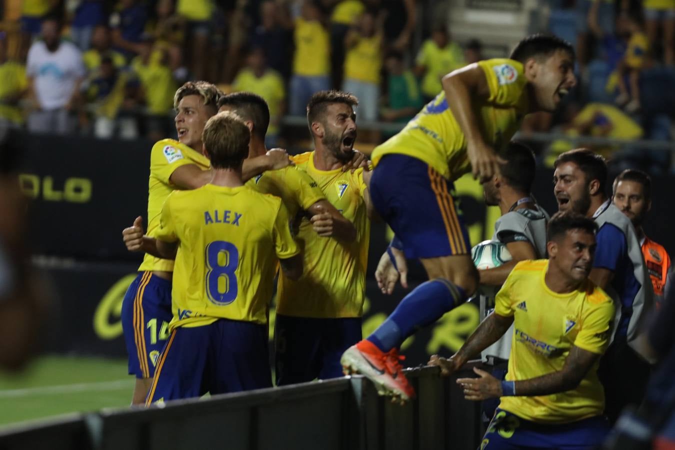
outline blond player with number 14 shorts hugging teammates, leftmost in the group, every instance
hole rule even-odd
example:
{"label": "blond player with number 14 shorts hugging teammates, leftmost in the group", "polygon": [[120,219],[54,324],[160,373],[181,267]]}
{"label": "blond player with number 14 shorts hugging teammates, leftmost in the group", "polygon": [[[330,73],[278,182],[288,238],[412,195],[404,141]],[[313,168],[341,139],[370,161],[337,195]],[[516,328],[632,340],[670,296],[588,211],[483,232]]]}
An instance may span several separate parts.
{"label": "blond player with number 14 shorts hugging teammates, leftmost in the group", "polygon": [[[217,111],[222,93],[207,82],[187,82],[175,92],[175,128],[178,141],[157,142],[150,155],[148,183],[148,235],[159,227],[159,213],[167,196],[175,190],[194,189],[211,179],[210,162],[202,154],[202,130]],[[288,155],[281,150],[244,162],[244,179],[267,169],[288,166]],[[125,229],[129,250],[140,250],[144,235],[142,219]],[[143,403],[155,374],[155,364],[163,348],[171,320],[171,273],[173,260],[146,254],[138,277],[132,282],[122,302],[122,329],[129,354],[129,374],[136,375],[132,403]]]}

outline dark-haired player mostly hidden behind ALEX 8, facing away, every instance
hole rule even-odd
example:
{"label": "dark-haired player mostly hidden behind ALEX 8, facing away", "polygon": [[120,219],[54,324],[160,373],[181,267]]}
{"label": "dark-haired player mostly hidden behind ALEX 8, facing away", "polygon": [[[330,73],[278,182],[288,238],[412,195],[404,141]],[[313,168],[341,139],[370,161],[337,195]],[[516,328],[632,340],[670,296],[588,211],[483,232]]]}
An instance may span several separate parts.
{"label": "dark-haired player mostly hidden behind ALEX 8, facing away", "polygon": [[[248,158],[264,155],[267,152],[265,133],[269,125],[267,102],[252,92],[234,92],[221,97],[218,106],[221,112],[233,111],[248,126],[251,132]],[[321,236],[335,236],[344,240],[354,240],[356,236],[354,225],[326,200],[316,182],[304,171],[295,167],[266,171],[249,179],[246,186],[263,194],[280,197],[294,224],[306,216]]]}

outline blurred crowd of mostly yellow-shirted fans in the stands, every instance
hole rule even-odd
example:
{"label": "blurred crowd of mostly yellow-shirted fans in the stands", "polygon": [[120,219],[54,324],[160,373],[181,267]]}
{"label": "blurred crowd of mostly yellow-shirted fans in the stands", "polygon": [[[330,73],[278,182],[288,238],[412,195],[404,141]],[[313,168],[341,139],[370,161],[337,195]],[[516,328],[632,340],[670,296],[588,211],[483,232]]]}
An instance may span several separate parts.
{"label": "blurred crowd of mostly yellow-shirted fans in the stands", "polygon": [[[580,83],[560,113],[533,115],[523,130],[670,139],[675,0],[540,1],[549,14],[537,31],[574,44]],[[356,94],[360,121],[405,123],[444,74],[484,57],[480,40],[452,39],[448,7],[422,3],[4,0],[0,119],[34,132],[157,139],[173,135],[175,89],[204,79],[261,94],[271,146],[281,117],[304,115],[327,88]],[[545,147],[553,159],[572,146]],[[616,157],[612,146],[594,149]],[[650,171],[670,167],[668,151],[621,152]]]}

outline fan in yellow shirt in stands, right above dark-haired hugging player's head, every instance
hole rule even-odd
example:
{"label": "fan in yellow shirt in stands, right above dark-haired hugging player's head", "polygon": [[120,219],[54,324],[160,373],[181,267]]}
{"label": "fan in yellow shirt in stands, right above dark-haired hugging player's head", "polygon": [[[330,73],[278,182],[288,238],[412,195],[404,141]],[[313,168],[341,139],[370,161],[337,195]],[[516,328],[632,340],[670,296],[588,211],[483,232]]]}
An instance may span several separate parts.
{"label": "fan in yellow shirt in stands, right above dark-haired hugging player's head", "polygon": [[286,88],[281,76],[265,64],[263,49],[257,47],[250,51],[246,58],[246,67],[234,78],[232,89],[238,92],[253,92],[265,99],[269,107],[269,127],[265,144],[269,147],[276,146],[279,121],[284,113]]}

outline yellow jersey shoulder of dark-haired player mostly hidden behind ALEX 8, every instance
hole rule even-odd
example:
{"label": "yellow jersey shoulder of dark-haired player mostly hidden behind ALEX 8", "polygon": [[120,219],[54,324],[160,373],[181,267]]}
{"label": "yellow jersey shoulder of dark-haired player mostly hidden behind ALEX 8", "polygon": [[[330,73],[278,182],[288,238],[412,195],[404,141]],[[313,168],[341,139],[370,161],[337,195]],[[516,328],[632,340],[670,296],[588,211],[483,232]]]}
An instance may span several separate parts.
{"label": "yellow jersey shoulder of dark-haired player mostly hidden behind ALEX 8", "polygon": [[261,194],[281,198],[292,220],[301,210],[326,198],[317,182],[295,167],[263,172],[246,181],[246,186]]}

